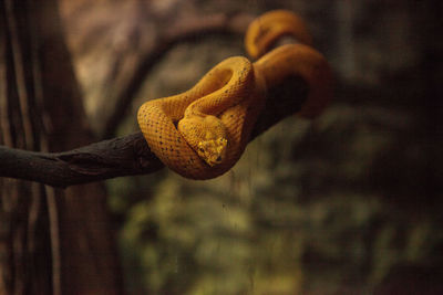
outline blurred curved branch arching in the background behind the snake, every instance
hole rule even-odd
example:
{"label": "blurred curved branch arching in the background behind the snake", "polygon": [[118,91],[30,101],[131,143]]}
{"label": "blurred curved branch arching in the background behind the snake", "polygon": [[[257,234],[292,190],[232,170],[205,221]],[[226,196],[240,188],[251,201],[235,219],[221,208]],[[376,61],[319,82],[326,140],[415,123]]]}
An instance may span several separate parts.
{"label": "blurred curved branch arching in the background behind the snake", "polygon": [[102,138],[111,138],[115,136],[115,130],[125,117],[125,113],[131,106],[132,101],[140,91],[151,70],[162,61],[162,57],[172,50],[176,44],[202,40],[203,38],[216,34],[243,34],[247,24],[253,19],[251,15],[237,13],[226,15],[223,13],[189,18],[182,20],[163,33],[159,34],[155,45],[148,51],[142,53],[137,67],[132,72],[128,83],[117,93],[113,113],[107,117],[104,125]]}

